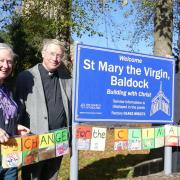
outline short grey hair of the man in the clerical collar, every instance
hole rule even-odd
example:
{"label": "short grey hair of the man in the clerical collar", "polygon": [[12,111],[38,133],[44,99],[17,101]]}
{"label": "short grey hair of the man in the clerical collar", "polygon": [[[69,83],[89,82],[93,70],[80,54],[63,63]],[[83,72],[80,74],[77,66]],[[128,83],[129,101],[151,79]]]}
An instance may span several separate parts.
{"label": "short grey hair of the man in the clerical collar", "polygon": [[44,39],[42,44],[42,52],[46,51],[47,47],[51,44],[55,44],[61,48],[62,55],[65,52],[64,44],[63,42],[59,41],[58,39]]}

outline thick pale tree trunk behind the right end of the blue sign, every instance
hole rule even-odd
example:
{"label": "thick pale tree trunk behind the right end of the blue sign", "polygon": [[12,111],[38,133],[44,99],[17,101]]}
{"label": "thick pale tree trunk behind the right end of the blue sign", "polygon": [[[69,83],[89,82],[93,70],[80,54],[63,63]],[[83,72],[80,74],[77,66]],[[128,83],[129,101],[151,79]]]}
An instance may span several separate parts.
{"label": "thick pale tree trunk behind the right end of the blue sign", "polygon": [[154,54],[172,55],[173,13],[172,0],[159,0],[154,16]]}

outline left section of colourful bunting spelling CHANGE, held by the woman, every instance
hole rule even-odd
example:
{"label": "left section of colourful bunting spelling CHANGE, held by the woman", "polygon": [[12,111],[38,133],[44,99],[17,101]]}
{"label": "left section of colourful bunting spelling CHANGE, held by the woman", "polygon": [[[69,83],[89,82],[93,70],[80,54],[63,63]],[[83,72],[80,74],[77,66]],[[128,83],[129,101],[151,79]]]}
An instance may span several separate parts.
{"label": "left section of colourful bunting spelling CHANGE, held by the woman", "polygon": [[19,167],[69,153],[68,130],[10,138],[1,144],[2,167]]}

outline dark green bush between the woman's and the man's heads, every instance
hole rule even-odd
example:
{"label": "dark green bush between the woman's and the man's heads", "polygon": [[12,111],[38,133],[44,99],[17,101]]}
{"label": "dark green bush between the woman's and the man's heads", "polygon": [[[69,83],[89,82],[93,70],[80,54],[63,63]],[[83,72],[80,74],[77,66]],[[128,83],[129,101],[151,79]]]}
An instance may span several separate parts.
{"label": "dark green bush between the woman's and the man's heads", "polygon": [[17,74],[36,64],[40,58],[37,55],[37,47],[33,43],[33,39],[30,39],[32,34],[21,16],[14,16],[11,25],[7,26],[7,30],[11,44],[18,55],[14,68],[14,74]]}

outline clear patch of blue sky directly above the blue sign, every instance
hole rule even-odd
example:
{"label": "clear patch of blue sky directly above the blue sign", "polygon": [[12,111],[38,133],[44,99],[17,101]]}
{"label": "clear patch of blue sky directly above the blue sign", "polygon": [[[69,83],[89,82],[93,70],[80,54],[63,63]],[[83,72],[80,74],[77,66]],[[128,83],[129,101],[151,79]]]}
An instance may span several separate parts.
{"label": "clear patch of blue sky directly above the blue sign", "polygon": [[[114,6],[115,8],[117,8],[119,4],[114,3]],[[128,3],[128,5],[124,6],[122,9],[118,7],[118,11],[116,12],[113,11],[112,13],[107,14],[107,16],[104,17],[102,16],[102,18],[98,20],[99,22],[96,26],[97,28],[96,30],[101,31],[104,35],[103,37],[98,37],[98,36],[89,37],[85,34],[81,38],[78,38],[74,35],[73,39],[83,44],[124,50],[124,51],[131,51],[129,46],[131,45],[131,38],[135,27],[135,24],[133,24],[135,23],[133,18],[136,17],[131,16],[130,18],[125,18],[124,16],[125,13],[128,13],[130,11],[130,7],[132,8],[132,3]],[[107,23],[109,17],[111,17],[114,22],[118,22],[118,27],[117,26],[113,27]],[[119,28],[120,38],[114,38],[113,41],[112,31],[117,31],[118,28]],[[142,39],[139,41],[138,44],[136,44],[136,46],[134,46],[133,50],[138,53],[152,55],[153,54],[152,41],[153,41],[153,36],[149,38],[149,41],[145,41]]]}

